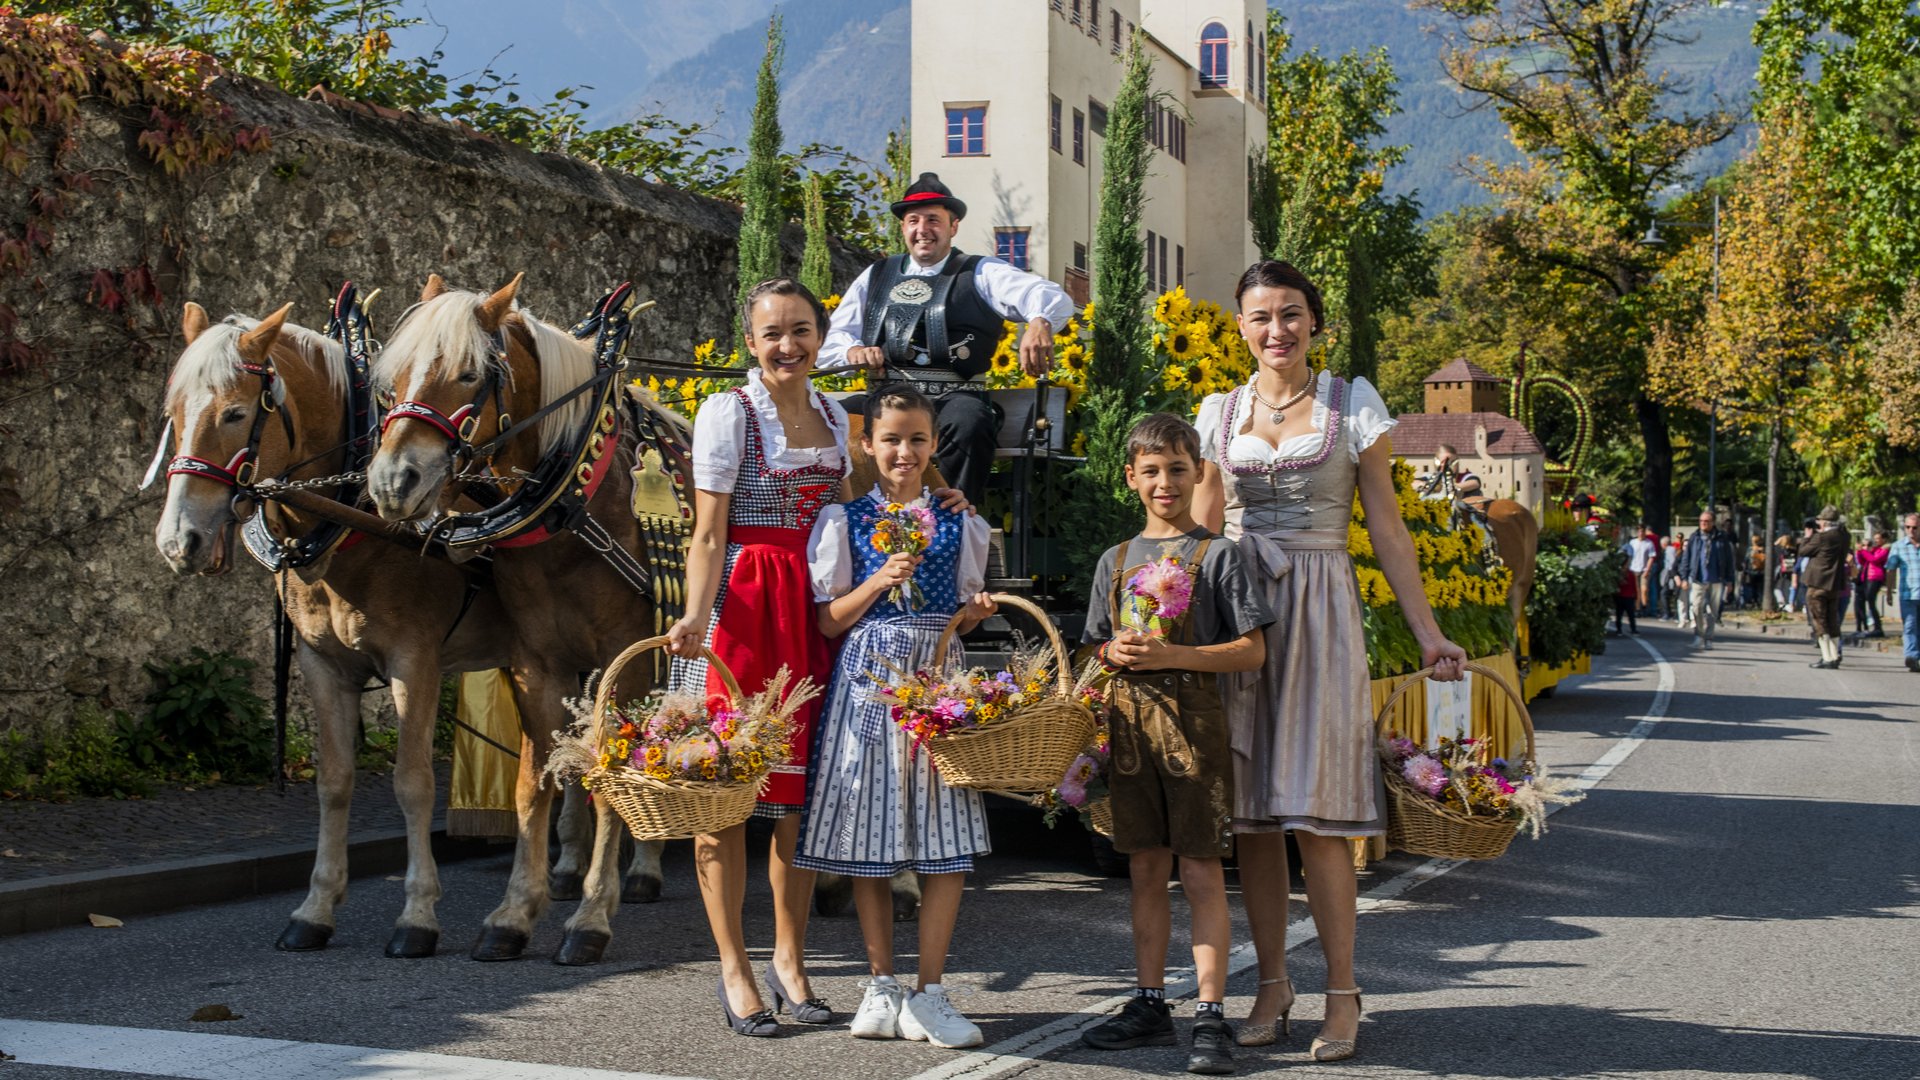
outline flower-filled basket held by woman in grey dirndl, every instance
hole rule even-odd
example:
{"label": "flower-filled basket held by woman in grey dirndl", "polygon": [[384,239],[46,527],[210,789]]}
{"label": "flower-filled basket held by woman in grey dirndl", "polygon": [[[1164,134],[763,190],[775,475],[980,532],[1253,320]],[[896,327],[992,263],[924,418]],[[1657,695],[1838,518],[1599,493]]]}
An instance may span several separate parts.
{"label": "flower-filled basket held by woman in grey dirndl", "polygon": [[[1584,798],[1572,780],[1548,776],[1540,769],[1532,717],[1507,680],[1476,663],[1469,663],[1467,671],[1492,680],[1513,700],[1526,730],[1526,757],[1492,757],[1490,744],[1476,738],[1442,738],[1436,748],[1427,749],[1398,732],[1382,730],[1379,749],[1386,780],[1388,847],[1442,859],[1496,859],[1521,828],[1538,838],[1551,803]],[[1394,701],[1428,675],[1430,667],[1396,686],[1380,705],[1375,726],[1382,726]]]}

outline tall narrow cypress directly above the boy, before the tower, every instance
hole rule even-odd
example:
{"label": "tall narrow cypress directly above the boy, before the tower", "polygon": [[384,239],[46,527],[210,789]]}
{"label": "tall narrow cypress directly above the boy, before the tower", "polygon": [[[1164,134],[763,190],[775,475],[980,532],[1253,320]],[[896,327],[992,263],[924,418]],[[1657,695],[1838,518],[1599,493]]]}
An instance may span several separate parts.
{"label": "tall narrow cypress directly above the boy, before the tower", "polygon": [[1069,540],[1075,586],[1085,586],[1092,567],[1117,536],[1140,525],[1140,503],[1127,490],[1127,430],[1140,404],[1154,396],[1152,327],[1146,313],[1146,242],[1140,211],[1146,206],[1146,104],[1152,61],[1140,40],[1127,50],[1127,73],[1108,111],[1100,221],[1092,236],[1092,361],[1081,400],[1087,465],[1073,484],[1079,523]]}

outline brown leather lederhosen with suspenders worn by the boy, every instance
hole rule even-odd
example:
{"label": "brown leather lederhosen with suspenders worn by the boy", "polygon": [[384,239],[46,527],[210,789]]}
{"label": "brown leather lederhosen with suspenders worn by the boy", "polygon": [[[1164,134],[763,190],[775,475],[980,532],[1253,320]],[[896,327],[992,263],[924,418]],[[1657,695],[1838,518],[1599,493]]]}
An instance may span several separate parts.
{"label": "brown leather lederhosen with suspenders worn by the boy", "polygon": [[[1194,550],[1196,575],[1212,542],[1210,536]],[[1131,569],[1129,546],[1121,544],[1114,555],[1108,609],[1116,632]],[[1175,644],[1194,644],[1188,617],[1169,630]],[[1219,676],[1206,671],[1121,671],[1114,676],[1108,792],[1116,851],[1171,847],[1188,859],[1233,853],[1233,759],[1217,686]]]}

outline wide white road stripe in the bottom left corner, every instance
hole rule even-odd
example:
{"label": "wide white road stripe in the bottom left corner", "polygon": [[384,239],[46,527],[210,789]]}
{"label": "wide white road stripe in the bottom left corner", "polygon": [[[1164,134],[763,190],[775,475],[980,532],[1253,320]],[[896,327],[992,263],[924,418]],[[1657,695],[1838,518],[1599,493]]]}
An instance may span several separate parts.
{"label": "wide white road stripe in the bottom left corner", "polygon": [[188,1080],[674,1080],[490,1057],[372,1049],[200,1032],[0,1019],[0,1049],[17,1065],[144,1072]]}

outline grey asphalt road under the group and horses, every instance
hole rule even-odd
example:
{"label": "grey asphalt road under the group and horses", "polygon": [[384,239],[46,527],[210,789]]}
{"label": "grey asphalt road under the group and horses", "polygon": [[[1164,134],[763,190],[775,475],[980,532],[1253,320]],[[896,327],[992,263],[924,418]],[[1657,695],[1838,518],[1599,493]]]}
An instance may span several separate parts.
{"label": "grey asphalt road under the group and horses", "polygon": [[[1242,1074],[1920,1076],[1920,676],[1895,653],[1809,671],[1811,648],[1778,638],[1709,653],[1670,630],[1644,642],[1651,650],[1615,642],[1592,676],[1534,707],[1549,767],[1599,763],[1588,799],[1546,840],[1457,867],[1398,855],[1363,876],[1359,1059],[1306,1061],[1323,976],[1304,944],[1294,1040],[1242,1049]],[[397,880],[355,886],[324,953],[273,951],[292,894],[0,940],[0,1051],[21,1059],[0,1076],[1179,1072],[1183,1051],[1071,1042],[1129,986],[1125,882],[1098,876],[1073,828],[998,815],[995,844],[948,965],[950,984],[975,990],[958,1003],[985,1028],[979,1053],[858,1042],[843,1026],[789,1026],[778,1042],[728,1034],[685,846],[674,846],[666,897],[626,907],[595,969],[465,959],[505,859],[444,871],[445,938],[428,961],[380,955]],[[758,955],[772,942],[764,894],[755,874]],[[563,917],[547,917],[534,953],[559,944]],[[1298,890],[1296,917],[1309,938]],[[1244,924],[1235,932],[1244,942]],[[908,967],[910,930],[899,944]],[[851,1011],[864,974],[854,920],[816,919],[810,955],[816,990]],[[1248,967],[1229,1015],[1244,1015],[1252,992]],[[209,1003],[242,1019],[188,1020]]]}

